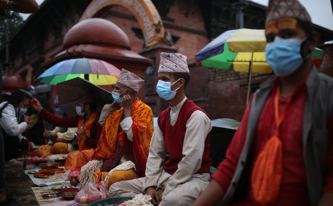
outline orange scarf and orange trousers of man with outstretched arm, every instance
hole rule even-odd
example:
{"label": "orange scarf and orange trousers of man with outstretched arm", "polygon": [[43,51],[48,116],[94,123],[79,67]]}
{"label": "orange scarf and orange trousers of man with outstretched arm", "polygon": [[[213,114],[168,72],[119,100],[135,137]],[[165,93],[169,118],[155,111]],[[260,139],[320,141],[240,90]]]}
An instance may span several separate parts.
{"label": "orange scarf and orange trousers of man with outstretched arm", "polygon": [[[89,119],[87,120],[87,122],[85,123],[85,125],[83,126],[83,129],[85,130],[87,136],[90,136],[90,129],[93,126],[94,120],[96,119],[97,115],[98,115],[98,111],[94,111]],[[82,127],[82,125],[84,124],[84,118],[81,117],[78,123],[78,129],[80,129]],[[70,169],[70,170],[74,170],[76,168],[80,168],[83,165],[87,164],[87,162],[89,162],[91,156],[93,155],[95,149],[90,148],[89,146],[86,146],[84,144],[84,140],[78,136],[78,143],[79,143],[79,150],[77,151],[72,151],[68,154],[67,158],[66,158],[66,163],[65,163],[65,168],[66,169]]]}

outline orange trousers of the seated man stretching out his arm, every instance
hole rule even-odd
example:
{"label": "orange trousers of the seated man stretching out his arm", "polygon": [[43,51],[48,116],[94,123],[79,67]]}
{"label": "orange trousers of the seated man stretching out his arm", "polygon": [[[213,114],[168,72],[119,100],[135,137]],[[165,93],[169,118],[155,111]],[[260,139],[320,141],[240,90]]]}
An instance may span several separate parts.
{"label": "orange trousers of the seated man stretching out his arm", "polygon": [[89,162],[94,152],[95,149],[86,149],[82,150],[81,152],[79,150],[76,150],[68,153],[66,158],[65,168],[74,170],[82,167],[83,165]]}

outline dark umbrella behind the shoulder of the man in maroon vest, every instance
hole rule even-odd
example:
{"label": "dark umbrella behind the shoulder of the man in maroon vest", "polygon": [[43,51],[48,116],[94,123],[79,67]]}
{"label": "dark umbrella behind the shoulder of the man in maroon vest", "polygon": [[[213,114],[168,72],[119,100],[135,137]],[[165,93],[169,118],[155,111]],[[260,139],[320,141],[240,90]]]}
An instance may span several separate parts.
{"label": "dark umbrella behind the shoulder of the man in maroon vest", "polygon": [[210,158],[213,167],[217,167],[225,158],[226,150],[235,134],[240,122],[234,119],[221,118],[211,120]]}

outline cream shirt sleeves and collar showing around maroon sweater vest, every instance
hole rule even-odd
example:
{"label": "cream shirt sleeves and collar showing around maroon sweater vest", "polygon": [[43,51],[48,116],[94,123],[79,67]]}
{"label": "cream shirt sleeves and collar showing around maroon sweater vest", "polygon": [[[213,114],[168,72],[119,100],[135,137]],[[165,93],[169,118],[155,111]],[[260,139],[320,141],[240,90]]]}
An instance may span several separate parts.
{"label": "cream shirt sleeves and collar showing around maroon sweater vest", "polygon": [[[171,126],[176,123],[180,108],[186,99],[185,97],[178,105],[170,107]],[[178,163],[178,169],[175,173],[168,177],[165,187],[166,194],[178,185],[190,180],[200,169],[204,142],[211,128],[211,121],[204,112],[196,110],[191,114],[186,122],[186,132],[182,148],[183,158]],[[162,176],[165,173],[163,171],[165,156],[166,146],[163,133],[159,125],[157,125],[149,149],[146,165],[146,181],[143,185],[144,191],[150,186],[160,186],[159,182],[161,182],[161,178],[164,178]]]}

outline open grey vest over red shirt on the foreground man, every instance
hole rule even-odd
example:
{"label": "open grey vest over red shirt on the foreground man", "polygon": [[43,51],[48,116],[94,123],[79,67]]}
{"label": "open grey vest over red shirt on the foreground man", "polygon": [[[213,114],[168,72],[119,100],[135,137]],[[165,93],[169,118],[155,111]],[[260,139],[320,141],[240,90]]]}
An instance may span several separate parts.
{"label": "open grey vest over red shirt on the foreground man", "polygon": [[[261,111],[271,93],[274,76],[260,85],[255,92],[247,123],[246,140],[231,183],[223,197],[222,205],[236,199],[238,191],[246,191],[241,182],[249,182],[249,156]],[[324,167],[329,145],[329,121],[333,112],[333,79],[317,72],[313,66],[306,81],[308,97],[303,119],[303,158],[311,205],[316,206],[325,186]],[[244,186],[244,185],[243,185]],[[236,192],[235,192],[236,191]]]}

